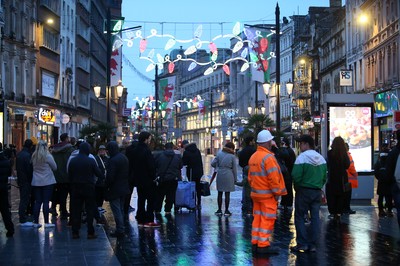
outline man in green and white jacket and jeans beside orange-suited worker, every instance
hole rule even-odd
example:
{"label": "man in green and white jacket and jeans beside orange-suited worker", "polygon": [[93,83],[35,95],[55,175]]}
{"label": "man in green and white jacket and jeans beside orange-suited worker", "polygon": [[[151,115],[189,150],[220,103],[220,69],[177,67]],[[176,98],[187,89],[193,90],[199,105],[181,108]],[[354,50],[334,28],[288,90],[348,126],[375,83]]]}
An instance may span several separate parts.
{"label": "man in green and white jacket and jeans beside orange-suited worker", "polygon": [[[294,221],[297,245],[293,252],[316,251],[319,236],[319,209],[321,207],[322,187],[326,182],[326,161],[314,150],[314,139],[302,135],[296,139],[300,143],[300,155],[292,170],[295,196]],[[310,234],[307,233],[305,217],[311,215]]]}

